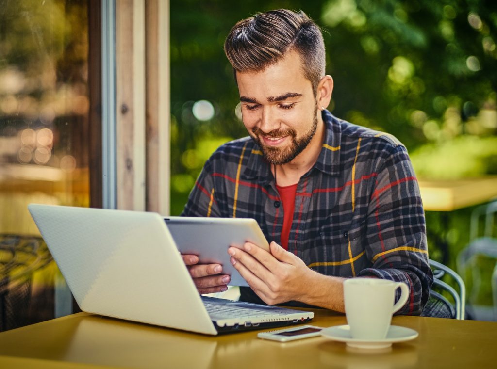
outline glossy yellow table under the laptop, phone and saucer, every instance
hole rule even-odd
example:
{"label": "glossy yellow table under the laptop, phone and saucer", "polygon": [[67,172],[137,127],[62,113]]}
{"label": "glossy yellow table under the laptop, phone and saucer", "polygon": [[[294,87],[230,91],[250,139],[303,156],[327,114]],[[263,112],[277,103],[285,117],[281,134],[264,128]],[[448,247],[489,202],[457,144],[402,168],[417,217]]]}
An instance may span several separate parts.
{"label": "glossy yellow table under the laptop, phone and saucer", "polygon": [[[317,310],[313,324],[345,324]],[[204,336],[78,313],[0,333],[0,368],[491,368],[497,323],[396,316],[419,332],[380,352],[346,349],[323,337],[278,343],[257,331]]]}

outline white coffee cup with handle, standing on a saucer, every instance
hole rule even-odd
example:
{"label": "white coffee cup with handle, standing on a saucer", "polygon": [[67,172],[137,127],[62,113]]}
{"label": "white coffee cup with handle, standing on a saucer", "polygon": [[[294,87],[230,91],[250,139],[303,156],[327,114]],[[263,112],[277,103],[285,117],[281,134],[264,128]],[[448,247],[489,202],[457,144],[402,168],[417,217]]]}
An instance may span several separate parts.
{"label": "white coffee cup with handle, standing on a saucer", "polygon": [[[395,302],[395,291],[401,297]],[[345,315],[354,339],[381,340],[386,338],[392,314],[409,298],[408,285],[378,278],[351,278],[343,282]]]}

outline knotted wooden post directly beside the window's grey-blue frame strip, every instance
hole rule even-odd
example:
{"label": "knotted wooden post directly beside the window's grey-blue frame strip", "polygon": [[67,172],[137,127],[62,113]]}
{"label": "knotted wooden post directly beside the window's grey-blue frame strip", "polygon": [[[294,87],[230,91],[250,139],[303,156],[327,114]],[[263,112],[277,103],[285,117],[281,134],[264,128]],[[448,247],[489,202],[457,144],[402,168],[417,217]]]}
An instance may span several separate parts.
{"label": "knotted wooden post directly beside the window's grey-blue frame strip", "polygon": [[145,210],[145,2],[116,0],[117,208]]}

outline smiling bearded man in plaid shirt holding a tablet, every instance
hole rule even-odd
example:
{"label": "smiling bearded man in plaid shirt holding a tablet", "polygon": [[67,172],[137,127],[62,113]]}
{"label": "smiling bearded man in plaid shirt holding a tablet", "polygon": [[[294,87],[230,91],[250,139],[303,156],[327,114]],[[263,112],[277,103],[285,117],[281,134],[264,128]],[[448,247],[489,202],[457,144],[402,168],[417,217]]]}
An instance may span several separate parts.
{"label": "smiling bearded man in plaid shirt holding a tablet", "polygon": [[[302,11],[259,13],[233,27],[225,52],[250,137],[211,156],[183,215],[257,220],[270,252],[228,249],[250,286],[241,299],[343,312],[343,280],[373,277],[405,282],[400,313],[419,314],[433,277],[407,150],[326,110],[319,27]],[[226,291],[220,265],[183,260],[200,293]]]}

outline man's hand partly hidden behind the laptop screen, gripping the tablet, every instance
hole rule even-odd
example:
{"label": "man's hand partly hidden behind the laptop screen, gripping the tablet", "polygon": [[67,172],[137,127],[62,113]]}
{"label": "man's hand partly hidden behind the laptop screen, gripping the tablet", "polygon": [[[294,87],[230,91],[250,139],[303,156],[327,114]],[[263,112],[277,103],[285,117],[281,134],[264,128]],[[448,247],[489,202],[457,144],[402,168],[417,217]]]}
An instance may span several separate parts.
{"label": "man's hand partly hidden behind the laptop screen, gripping the tablet", "polygon": [[199,294],[212,294],[228,290],[230,276],[220,274],[223,270],[219,264],[198,264],[198,256],[181,255],[186,264],[193,283]]}

